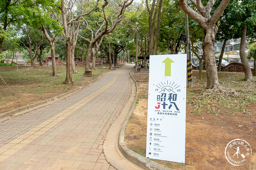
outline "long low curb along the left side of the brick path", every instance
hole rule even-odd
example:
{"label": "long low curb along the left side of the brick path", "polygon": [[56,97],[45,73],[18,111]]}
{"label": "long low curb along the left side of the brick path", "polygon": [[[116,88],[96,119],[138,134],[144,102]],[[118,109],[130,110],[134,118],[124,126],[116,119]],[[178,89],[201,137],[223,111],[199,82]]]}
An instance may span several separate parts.
{"label": "long low curb along the left side of the brick path", "polygon": [[102,78],[107,72],[113,71],[113,70],[116,70],[116,69],[111,69],[111,70],[105,71],[105,72],[101,73],[97,78],[93,79],[92,81],[87,82],[84,85],[76,87],[75,89],[70,90],[68,92],[65,92],[63,94],[60,94],[58,96],[52,97],[52,98],[47,99],[47,100],[42,100],[42,101],[36,102],[36,103],[30,104],[28,106],[19,107],[19,108],[16,108],[14,110],[10,110],[8,112],[4,112],[3,114],[0,114],[0,122],[4,122],[6,119],[17,117],[19,115],[22,115],[22,114],[25,114],[27,112],[33,111],[33,110],[38,109],[40,107],[49,105],[50,103],[56,102],[58,100],[66,98],[66,97],[69,97],[70,95],[74,94],[75,92],[78,92],[78,91],[82,90],[84,87],[87,87],[87,86],[95,83],[100,78]]}

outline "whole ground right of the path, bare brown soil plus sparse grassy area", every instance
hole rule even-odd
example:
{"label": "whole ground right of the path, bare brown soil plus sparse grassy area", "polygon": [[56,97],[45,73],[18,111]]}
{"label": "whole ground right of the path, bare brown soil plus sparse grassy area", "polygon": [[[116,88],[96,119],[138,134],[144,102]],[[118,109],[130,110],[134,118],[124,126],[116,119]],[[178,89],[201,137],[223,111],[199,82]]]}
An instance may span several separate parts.
{"label": "whole ground right of the path, bare brown soil plus sparse grassy area", "polygon": [[[125,142],[129,148],[145,157],[148,82],[141,81],[147,77],[141,73],[132,75],[139,80],[139,100],[127,124]],[[221,72],[220,84],[234,88],[239,96],[202,96],[206,73],[203,73],[202,82],[198,80],[198,74],[193,71],[194,87],[187,88],[186,162],[155,161],[170,169],[256,169],[256,83],[243,82],[244,73]],[[225,147],[234,139],[243,139],[252,148],[251,159],[242,166],[231,165],[225,157]]]}

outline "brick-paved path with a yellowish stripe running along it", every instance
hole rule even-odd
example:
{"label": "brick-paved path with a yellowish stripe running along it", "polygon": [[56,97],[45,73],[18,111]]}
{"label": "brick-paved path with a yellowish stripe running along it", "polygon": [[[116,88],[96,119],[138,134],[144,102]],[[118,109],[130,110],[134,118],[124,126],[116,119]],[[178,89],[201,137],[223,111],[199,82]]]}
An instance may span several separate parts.
{"label": "brick-paved path with a yellowish stripe running along it", "polygon": [[115,169],[103,141],[128,100],[131,66],[56,103],[0,123],[0,169]]}

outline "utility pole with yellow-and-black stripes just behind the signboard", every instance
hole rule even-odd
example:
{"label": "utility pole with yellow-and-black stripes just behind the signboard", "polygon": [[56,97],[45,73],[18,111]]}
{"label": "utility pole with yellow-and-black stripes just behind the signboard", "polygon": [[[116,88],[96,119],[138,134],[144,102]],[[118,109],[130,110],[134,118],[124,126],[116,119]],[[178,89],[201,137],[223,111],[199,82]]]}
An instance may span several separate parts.
{"label": "utility pole with yellow-and-black stripes just behind the signboard", "polygon": [[193,87],[193,76],[192,76],[192,64],[191,64],[191,46],[189,40],[189,29],[188,29],[188,14],[185,13],[185,30],[186,30],[186,53],[187,53],[187,79],[188,79],[188,87]]}

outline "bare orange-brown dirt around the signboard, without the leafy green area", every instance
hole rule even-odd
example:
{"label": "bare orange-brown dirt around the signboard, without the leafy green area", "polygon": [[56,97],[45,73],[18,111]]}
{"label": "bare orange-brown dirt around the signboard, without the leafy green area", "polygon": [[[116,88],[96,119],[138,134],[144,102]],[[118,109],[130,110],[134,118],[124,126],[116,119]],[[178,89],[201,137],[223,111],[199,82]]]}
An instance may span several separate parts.
{"label": "bare orange-brown dirt around the signboard, without the leafy green area", "polygon": [[[138,103],[125,130],[127,146],[144,157],[148,106],[148,81],[145,81],[148,76],[147,72],[148,70],[141,70],[139,75],[132,75],[139,80],[139,100],[137,100]],[[240,74],[243,75],[243,73]],[[198,81],[198,72],[194,71],[194,76],[194,82]],[[195,113],[194,109],[198,106],[195,107],[193,100],[188,100],[188,92],[202,90],[200,84],[194,83],[194,88],[187,89],[185,164],[155,161],[170,169],[256,169],[256,103],[247,104],[242,112],[232,110],[232,113],[229,113],[228,109],[218,108],[218,104],[214,103],[199,106],[198,112]],[[228,100],[228,96],[226,100]],[[239,107],[237,103],[231,103],[231,105]],[[205,107],[209,109],[203,109]],[[217,114],[211,114],[209,110],[215,110]],[[243,139],[252,148],[251,159],[246,160],[242,166],[231,165],[225,157],[225,148],[234,139]]]}

